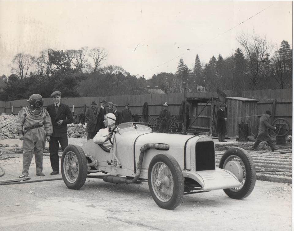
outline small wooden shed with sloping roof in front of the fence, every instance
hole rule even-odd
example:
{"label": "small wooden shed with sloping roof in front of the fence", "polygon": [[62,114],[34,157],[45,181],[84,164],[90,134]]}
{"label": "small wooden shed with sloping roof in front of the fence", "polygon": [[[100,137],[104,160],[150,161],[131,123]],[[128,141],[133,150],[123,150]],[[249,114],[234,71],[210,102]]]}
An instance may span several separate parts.
{"label": "small wooden shed with sloping roof in front of the fence", "polygon": [[[239,124],[248,123],[251,134],[258,132],[258,100],[243,97],[226,97],[227,104],[227,136],[235,137],[239,134]],[[252,134],[253,133],[253,134]]]}

